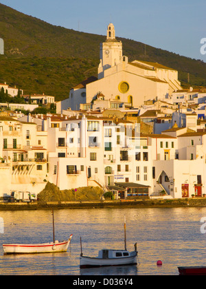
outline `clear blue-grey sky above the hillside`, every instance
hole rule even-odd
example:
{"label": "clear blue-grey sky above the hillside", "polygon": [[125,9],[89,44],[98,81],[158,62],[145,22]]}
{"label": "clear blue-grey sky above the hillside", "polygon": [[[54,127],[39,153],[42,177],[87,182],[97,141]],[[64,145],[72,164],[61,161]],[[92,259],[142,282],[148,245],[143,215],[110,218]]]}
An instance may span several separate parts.
{"label": "clear blue-grey sky above the hillside", "polygon": [[107,25],[113,23],[116,36],[206,62],[205,0],[0,0],[0,3],[80,32],[106,35]]}

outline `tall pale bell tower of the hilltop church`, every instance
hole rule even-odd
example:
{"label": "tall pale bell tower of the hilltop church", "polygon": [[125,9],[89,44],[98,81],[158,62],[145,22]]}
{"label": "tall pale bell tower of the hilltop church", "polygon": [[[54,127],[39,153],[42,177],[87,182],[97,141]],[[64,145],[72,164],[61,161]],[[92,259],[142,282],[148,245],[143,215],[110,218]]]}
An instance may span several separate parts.
{"label": "tall pale bell tower of the hilltop church", "polygon": [[98,78],[104,77],[104,71],[122,60],[122,41],[115,38],[115,26],[110,23],[107,27],[106,41],[100,44],[100,65]]}

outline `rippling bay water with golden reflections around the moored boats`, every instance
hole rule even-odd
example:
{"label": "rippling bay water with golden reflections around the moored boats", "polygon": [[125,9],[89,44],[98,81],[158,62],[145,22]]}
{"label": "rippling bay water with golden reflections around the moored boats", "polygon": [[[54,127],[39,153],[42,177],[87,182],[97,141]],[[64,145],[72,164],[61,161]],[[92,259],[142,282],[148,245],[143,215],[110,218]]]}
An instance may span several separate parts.
{"label": "rippling bay water with golden reflections around the moored boats", "polygon": [[[83,253],[96,257],[103,248],[124,249],[124,215],[127,248],[137,242],[140,266],[80,270]],[[1,211],[1,275],[179,275],[178,266],[205,264],[206,235],[201,218],[206,208],[105,208],[55,211],[56,239],[72,233],[71,251],[43,255],[3,255],[3,243],[52,242],[51,211]],[[161,268],[157,260],[163,261]]]}

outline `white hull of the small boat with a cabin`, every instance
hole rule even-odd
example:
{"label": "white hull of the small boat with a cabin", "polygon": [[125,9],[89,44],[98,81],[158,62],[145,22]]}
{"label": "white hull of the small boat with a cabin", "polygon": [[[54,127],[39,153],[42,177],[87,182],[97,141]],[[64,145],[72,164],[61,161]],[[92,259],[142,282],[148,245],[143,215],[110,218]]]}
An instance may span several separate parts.
{"label": "white hull of the small boat with a cabin", "polygon": [[137,253],[134,253],[130,257],[119,257],[119,258],[93,258],[87,256],[80,256],[80,268],[93,268],[103,266],[125,266],[125,265],[136,265],[137,264]]}

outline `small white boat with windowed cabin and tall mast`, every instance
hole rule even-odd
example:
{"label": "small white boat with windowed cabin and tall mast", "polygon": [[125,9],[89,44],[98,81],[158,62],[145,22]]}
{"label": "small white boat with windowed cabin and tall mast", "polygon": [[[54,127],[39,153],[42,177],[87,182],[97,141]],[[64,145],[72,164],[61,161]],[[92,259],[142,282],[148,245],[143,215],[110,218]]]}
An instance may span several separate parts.
{"label": "small white boat with windowed cabin and tall mast", "polygon": [[124,218],[124,250],[100,250],[98,257],[83,256],[82,239],[80,238],[81,255],[80,268],[92,268],[102,266],[122,266],[122,265],[137,265],[137,243],[135,250],[129,252],[126,250],[126,221]]}

